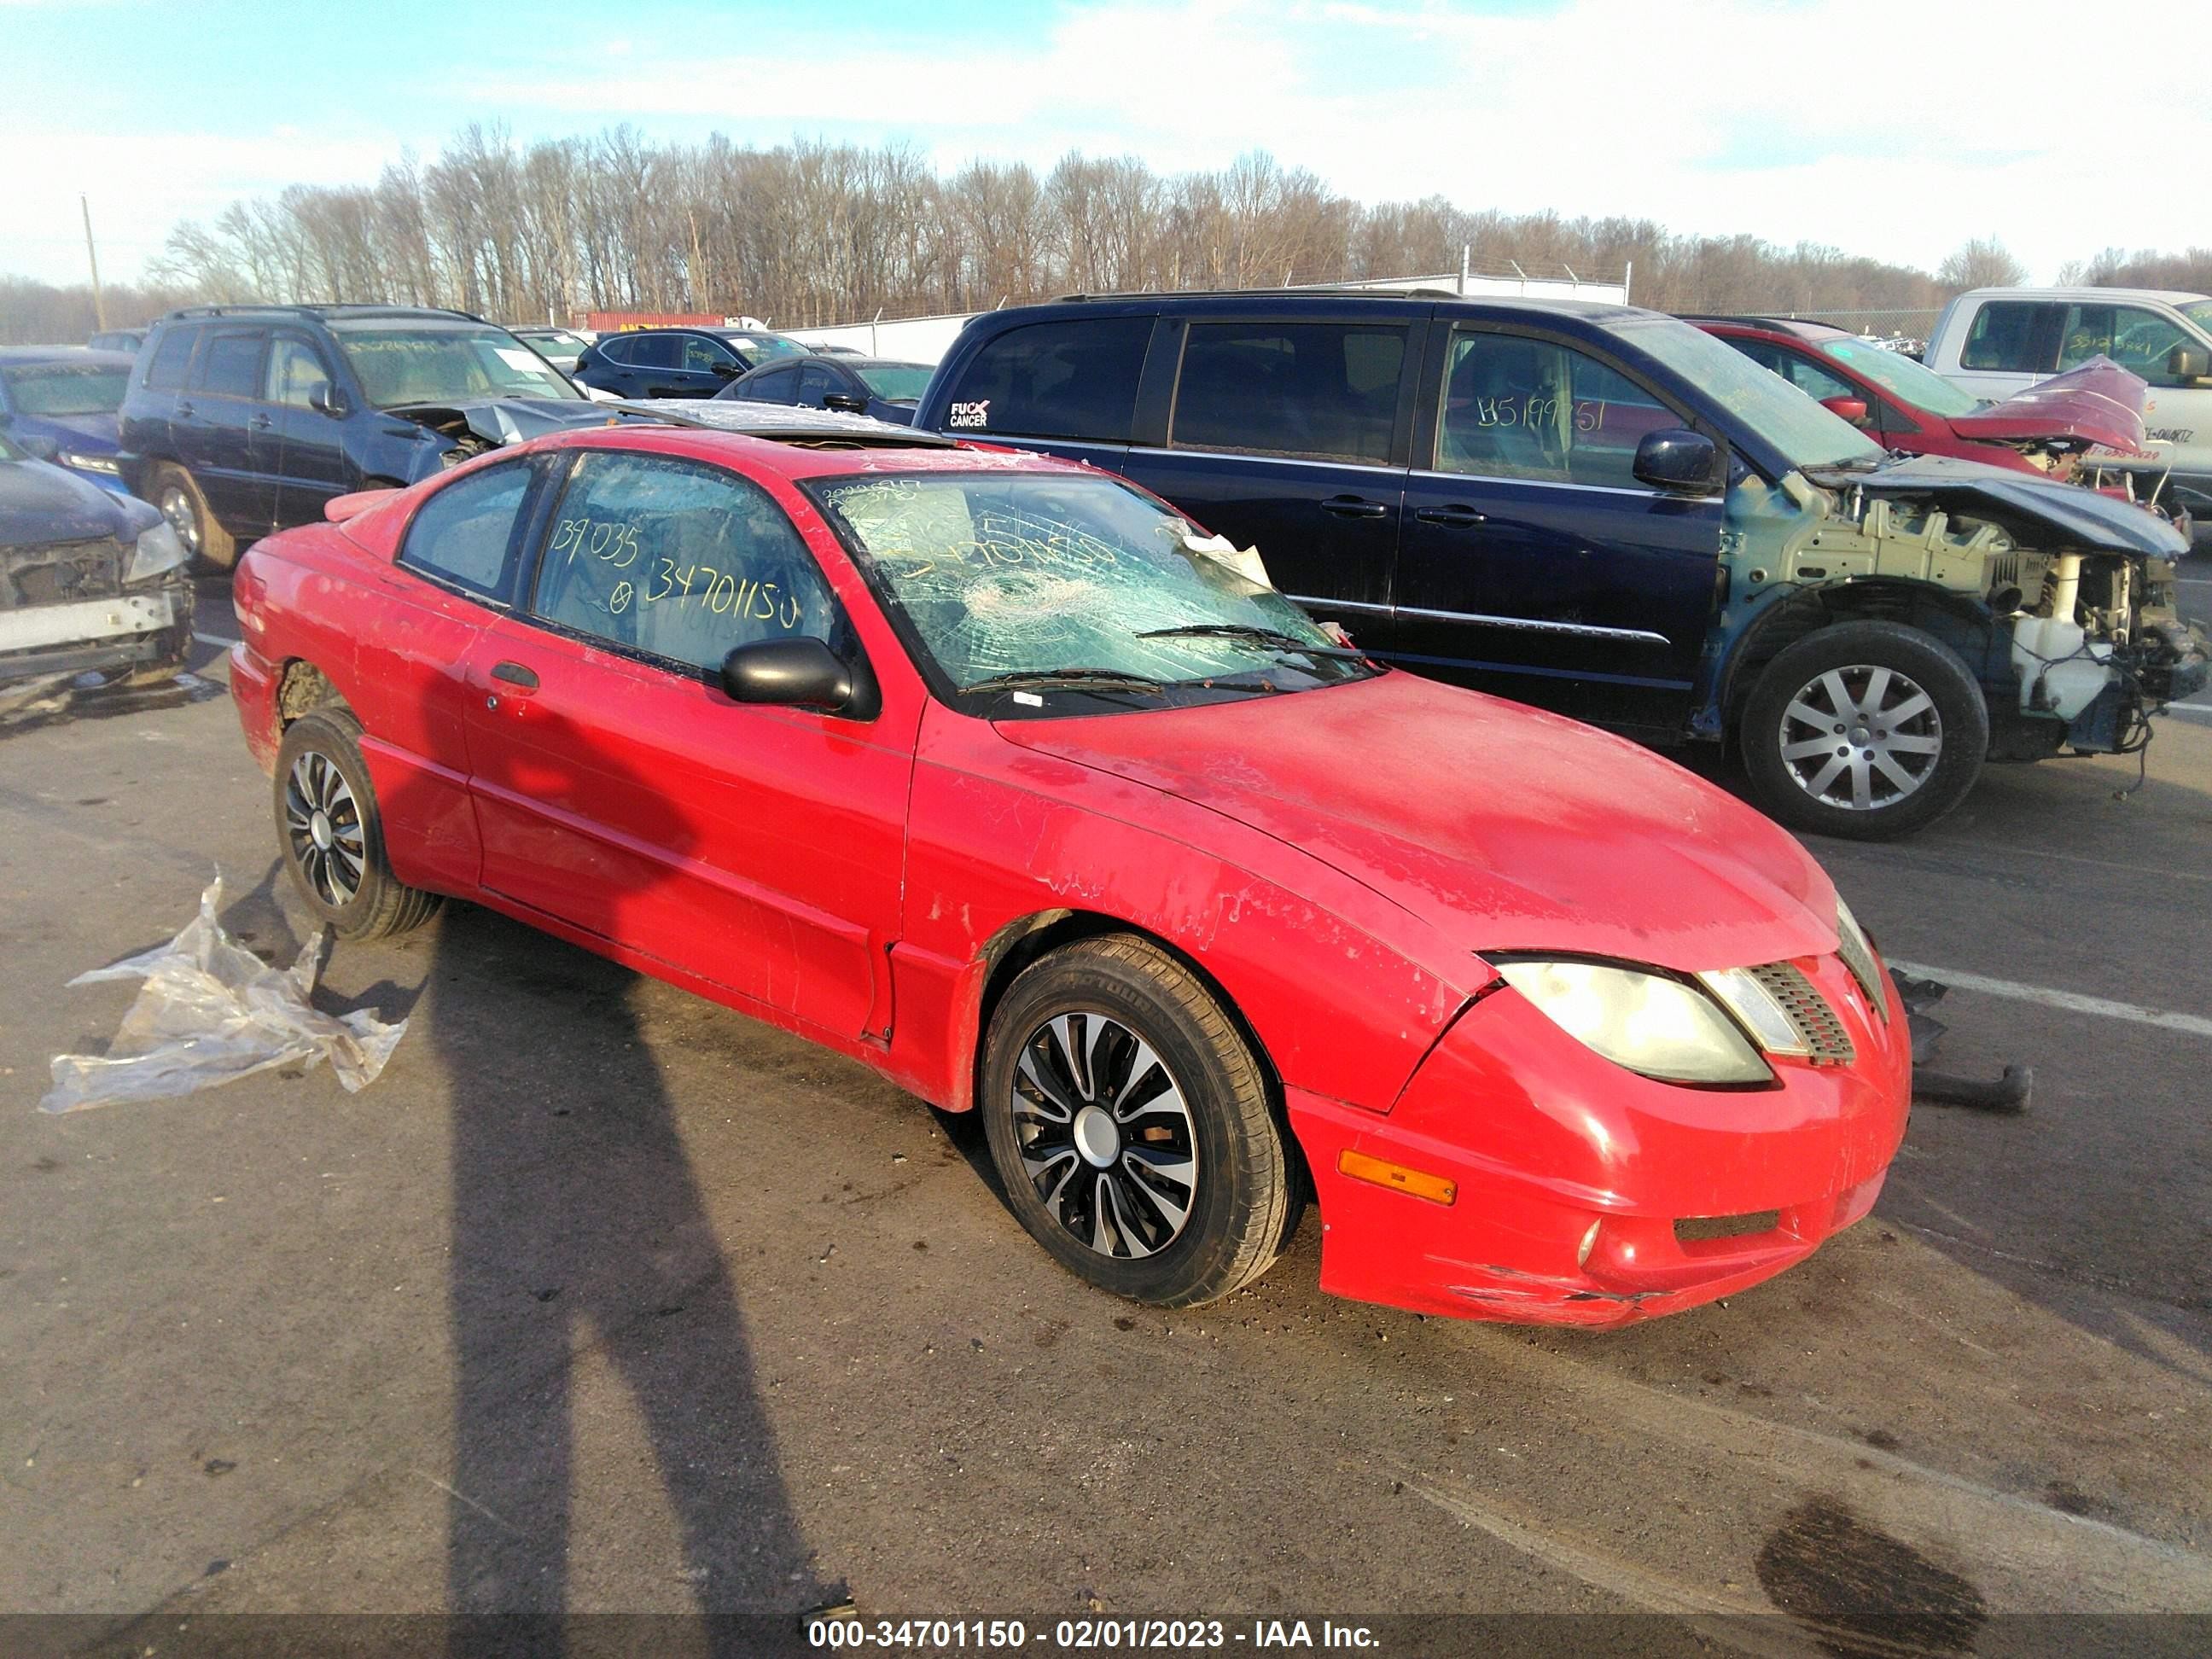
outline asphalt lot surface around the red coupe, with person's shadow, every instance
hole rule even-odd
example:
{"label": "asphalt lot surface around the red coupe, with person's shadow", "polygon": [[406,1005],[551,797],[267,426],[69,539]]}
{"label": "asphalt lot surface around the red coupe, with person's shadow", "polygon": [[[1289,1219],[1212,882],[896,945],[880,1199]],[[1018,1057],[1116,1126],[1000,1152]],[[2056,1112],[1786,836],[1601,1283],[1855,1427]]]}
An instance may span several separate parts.
{"label": "asphalt lot surface around the red coupe, with person's shadow", "polygon": [[210,869],[243,942],[305,931],[204,655],[201,695],[0,730],[0,1610],[113,1615],[22,1644],[849,1595],[1723,1646],[1871,1606],[1964,1652],[2008,1613],[2212,1610],[2212,699],[2126,799],[2132,759],[2000,768],[1918,841],[1814,845],[1889,956],[2017,987],[1949,995],[1942,1064],[2028,1062],[2033,1108],[1922,1106],[1809,1263],[1588,1336],[1325,1298],[1312,1210],[1254,1290],[1124,1305],[964,1126],[471,907],[336,951],[325,1006],[411,1018],[358,1095],[42,1117],[133,993],[64,980]]}

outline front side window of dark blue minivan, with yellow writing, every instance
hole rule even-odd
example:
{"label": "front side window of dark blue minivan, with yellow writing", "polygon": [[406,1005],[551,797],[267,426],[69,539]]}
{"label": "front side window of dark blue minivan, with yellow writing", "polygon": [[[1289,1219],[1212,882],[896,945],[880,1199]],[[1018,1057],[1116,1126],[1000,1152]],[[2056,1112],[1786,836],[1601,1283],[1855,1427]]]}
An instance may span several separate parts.
{"label": "front side window of dark blue minivan, with yellow writing", "polygon": [[1683,425],[1617,369],[1524,334],[1458,327],[1444,367],[1436,467],[1482,478],[1535,478],[1644,489],[1646,434]]}

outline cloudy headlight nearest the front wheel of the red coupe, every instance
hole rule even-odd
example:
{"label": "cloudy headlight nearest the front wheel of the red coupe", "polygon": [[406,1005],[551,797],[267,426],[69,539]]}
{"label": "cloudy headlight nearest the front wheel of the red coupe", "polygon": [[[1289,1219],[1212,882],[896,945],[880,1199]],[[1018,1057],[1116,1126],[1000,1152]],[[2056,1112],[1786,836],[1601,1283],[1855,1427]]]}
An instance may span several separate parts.
{"label": "cloudy headlight nearest the front wheel of the red coupe", "polygon": [[1767,1062],[1710,995],[1597,962],[1500,962],[1498,975],[1615,1066],[1663,1084],[1765,1084]]}

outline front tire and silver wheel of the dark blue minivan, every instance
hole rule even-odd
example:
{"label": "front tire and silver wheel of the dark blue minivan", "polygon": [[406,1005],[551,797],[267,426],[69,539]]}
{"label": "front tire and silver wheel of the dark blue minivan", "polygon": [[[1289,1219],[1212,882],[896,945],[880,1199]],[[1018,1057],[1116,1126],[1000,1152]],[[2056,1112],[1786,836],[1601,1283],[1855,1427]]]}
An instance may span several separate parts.
{"label": "front tire and silver wheel of the dark blue minivan", "polygon": [[1889,841],[1951,812],[1989,757],[1989,703],[1933,635],[1896,622],[1809,633],[1759,675],[1739,723],[1767,816]]}

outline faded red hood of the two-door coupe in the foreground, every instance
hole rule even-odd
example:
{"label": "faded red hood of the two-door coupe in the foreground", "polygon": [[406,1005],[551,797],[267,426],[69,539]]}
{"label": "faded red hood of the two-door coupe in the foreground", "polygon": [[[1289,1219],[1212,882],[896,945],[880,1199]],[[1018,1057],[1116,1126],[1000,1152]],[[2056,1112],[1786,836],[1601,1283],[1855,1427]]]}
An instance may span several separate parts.
{"label": "faded red hood of the two-door coupe in the foreground", "polygon": [[1303,849],[1458,949],[1677,971],[1836,949],[1836,889],[1783,830],[1599,732],[1405,672],[1000,737]]}

